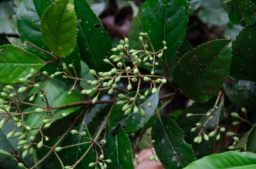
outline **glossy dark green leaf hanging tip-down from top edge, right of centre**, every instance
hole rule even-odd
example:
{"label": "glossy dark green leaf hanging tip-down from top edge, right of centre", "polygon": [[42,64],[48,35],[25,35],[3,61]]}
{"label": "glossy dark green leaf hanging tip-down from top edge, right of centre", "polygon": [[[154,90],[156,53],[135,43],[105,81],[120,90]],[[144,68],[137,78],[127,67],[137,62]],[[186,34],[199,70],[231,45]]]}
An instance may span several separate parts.
{"label": "glossy dark green leaf hanging tip-down from top edge, right of centre", "polygon": [[186,0],[147,0],[142,11],[142,25],[148,33],[155,51],[167,50],[162,56],[168,64],[175,55],[177,47],[183,43],[188,24],[188,5]]}

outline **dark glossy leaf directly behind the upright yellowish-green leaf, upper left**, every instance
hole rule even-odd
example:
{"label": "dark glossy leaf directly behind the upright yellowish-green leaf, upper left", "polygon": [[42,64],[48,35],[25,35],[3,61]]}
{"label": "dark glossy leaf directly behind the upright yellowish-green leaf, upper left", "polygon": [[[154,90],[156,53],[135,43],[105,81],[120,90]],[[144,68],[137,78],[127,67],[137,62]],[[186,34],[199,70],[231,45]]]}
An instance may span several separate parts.
{"label": "dark glossy leaf directly behind the upright yellowish-green leaf, upper left", "polygon": [[[46,7],[41,6],[40,8]],[[41,9],[41,10],[46,10]],[[29,18],[29,19],[28,19]],[[41,37],[41,31],[40,31],[40,19],[36,12],[33,0],[20,0],[19,6],[17,8],[17,25],[18,25],[18,31],[20,35],[20,40],[22,43],[25,41],[28,41],[48,52],[51,53],[51,51],[48,49],[48,47],[45,45],[44,41]],[[24,46],[26,51],[33,53],[43,59],[44,61],[52,61],[53,58],[41,51],[38,51],[34,48],[32,48],[29,45]],[[79,72],[81,71],[80,68],[80,57],[78,55],[78,48],[76,47],[71,53],[70,56],[61,58],[61,61],[66,63],[67,65],[71,64],[73,62],[74,67],[76,68],[76,72],[79,77]],[[48,72],[48,74],[54,74],[58,70],[62,70],[62,65],[59,65],[57,63],[50,63],[45,65],[44,70]],[[71,73],[74,76],[73,70],[71,70]],[[65,83],[73,84],[72,80],[66,80],[62,78],[61,76],[55,77],[58,80],[61,80]]]}

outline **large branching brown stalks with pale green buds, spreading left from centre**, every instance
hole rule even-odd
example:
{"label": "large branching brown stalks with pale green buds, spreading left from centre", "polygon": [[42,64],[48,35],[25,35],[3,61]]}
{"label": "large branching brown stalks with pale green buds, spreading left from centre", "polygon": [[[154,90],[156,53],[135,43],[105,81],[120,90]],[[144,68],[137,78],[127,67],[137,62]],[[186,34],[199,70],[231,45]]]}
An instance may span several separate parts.
{"label": "large branching brown stalks with pale green buds, spreading left from centre", "polygon": [[[38,49],[42,52],[47,53],[48,55],[50,55],[51,57],[53,57],[55,59],[54,61],[50,61],[50,62],[47,62],[44,64],[49,64],[51,62],[58,62],[60,65],[62,65],[63,71],[57,71],[52,75],[48,75],[48,73],[46,71],[43,71],[42,75],[46,76],[47,80],[43,86],[40,86],[40,83],[36,82],[36,78],[35,78],[36,72],[33,68],[31,68],[30,73],[32,75],[32,78],[18,79],[18,81],[24,85],[23,87],[20,87],[17,91],[11,85],[7,85],[4,87],[4,92],[1,92],[1,96],[6,99],[4,99],[4,100],[0,99],[0,103],[1,103],[0,117],[3,118],[0,122],[0,129],[7,122],[9,123],[12,120],[14,122],[14,124],[13,124],[14,127],[13,127],[13,129],[11,129],[11,131],[7,134],[6,137],[7,137],[7,139],[10,139],[12,137],[18,137],[18,145],[17,145],[18,154],[16,155],[14,153],[14,155],[11,155],[11,156],[13,158],[19,159],[20,155],[21,155],[21,150],[25,149],[25,151],[23,151],[23,153],[22,153],[23,158],[25,158],[28,154],[32,156],[35,152],[35,149],[37,149],[37,148],[40,149],[40,148],[44,147],[44,148],[49,149],[48,153],[42,159],[35,162],[35,165],[33,167],[31,167],[31,169],[38,167],[38,164],[40,164],[42,161],[44,161],[49,156],[49,154],[51,152],[55,153],[56,157],[60,161],[60,164],[62,165],[62,168],[68,169],[68,168],[74,168],[83,159],[83,157],[88,153],[89,149],[94,147],[94,149],[96,151],[96,161],[91,162],[89,164],[89,166],[96,167],[96,165],[99,165],[101,168],[106,168],[107,167],[106,163],[111,162],[111,159],[104,159],[104,155],[103,155],[104,152],[102,150],[102,147],[104,146],[104,144],[106,144],[106,140],[105,140],[106,133],[102,140],[99,141],[98,138],[107,124],[108,117],[110,115],[110,111],[112,108],[109,110],[108,116],[105,118],[99,132],[97,133],[97,135],[94,139],[86,137],[85,131],[78,132],[77,130],[74,130],[72,128],[77,123],[77,121],[79,120],[79,118],[81,117],[81,115],[84,112],[85,112],[85,114],[83,117],[83,122],[85,122],[86,117],[89,113],[90,106],[93,104],[100,104],[100,103],[112,103],[112,105],[124,104],[124,106],[122,108],[124,115],[130,114],[132,112],[132,110],[134,113],[138,113],[140,111],[141,116],[146,115],[147,112],[145,112],[142,109],[139,99],[144,100],[147,103],[147,106],[151,107],[151,103],[146,100],[145,96],[148,95],[148,92],[152,92],[152,94],[157,93],[157,90],[159,88],[161,88],[161,86],[164,83],[167,82],[168,74],[166,74],[166,77],[154,75],[155,74],[154,68],[155,68],[155,66],[158,65],[158,62],[156,62],[156,58],[158,58],[163,63],[163,65],[165,65],[164,61],[161,59],[161,56],[163,55],[163,52],[164,52],[164,50],[167,49],[167,47],[166,47],[166,42],[163,41],[163,49],[155,52],[147,33],[140,33],[140,35],[141,36],[139,37],[139,40],[142,43],[142,47],[143,47],[142,50],[133,50],[133,49],[129,50],[129,40],[128,40],[128,38],[124,38],[124,40],[120,40],[120,44],[117,45],[117,47],[112,49],[113,52],[120,52],[119,55],[112,55],[110,57],[110,59],[112,59],[112,62],[109,59],[103,60],[106,64],[110,64],[113,66],[113,68],[110,71],[96,73],[95,70],[92,70],[92,69],[89,70],[90,74],[93,75],[94,77],[96,77],[97,80],[90,80],[90,79],[84,80],[84,79],[78,78],[75,67],[72,64],[69,64],[68,67],[72,68],[74,71],[74,76],[73,76],[70,73],[70,71],[68,70],[68,67],[66,66],[66,64],[60,62],[59,57],[56,57],[56,56],[50,54],[49,52],[46,52],[43,49],[40,49],[39,47],[37,47],[29,42],[25,42],[24,45],[28,44],[35,49]],[[143,37],[146,38],[150,47],[148,46],[148,44],[143,43]],[[148,48],[151,48],[152,51],[151,52],[148,51],[147,50]],[[139,66],[140,66],[140,64],[143,64],[143,62],[145,63],[146,66],[152,67],[152,70],[149,75],[143,75],[139,71]],[[129,63],[132,64],[133,67],[128,66]],[[48,102],[47,92],[45,92],[44,89],[45,89],[47,83],[49,82],[49,80],[51,80],[51,78],[55,78],[55,76],[61,76],[61,75],[65,79],[72,79],[74,81],[70,90],[67,91],[67,94],[71,94],[71,92],[73,90],[75,90],[75,86],[77,86],[78,89],[80,90],[81,94],[83,94],[85,96],[85,101],[74,102],[74,103],[69,103],[69,104],[65,104],[65,105],[50,106],[51,103]],[[127,97],[126,95],[124,95],[122,93],[119,94],[118,97],[120,99],[126,99],[126,100],[117,101],[117,99],[114,95],[114,89],[119,90],[123,93],[128,93],[126,90],[117,87],[117,83],[121,80],[121,78],[127,79],[127,81],[128,81],[127,90],[128,91],[132,90],[132,83],[137,82],[138,83],[137,90],[133,97]],[[141,95],[139,93],[140,83],[141,83],[142,79],[145,82],[150,82],[150,88],[148,88],[145,91],[144,95]],[[93,88],[92,89],[84,89],[78,83],[79,81],[87,82],[88,84],[92,85]],[[35,92],[33,94],[31,94],[31,96],[29,98],[29,102],[21,101],[19,99],[18,93],[23,93],[28,89],[33,89],[33,91],[35,90]],[[106,91],[112,97],[112,99],[98,101],[98,97],[99,97],[99,94],[101,91]],[[98,93],[93,94],[94,97],[91,98],[90,94],[92,95],[93,92],[96,92],[96,93],[98,92]],[[41,98],[42,102],[45,102],[46,106],[41,106],[41,105],[33,103],[34,99],[37,96],[39,96],[39,98]],[[35,106],[37,108],[35,108],[35,110],[33,110],[33,111],[24,111],[20,108],[21,105]],[[43,134],[43,129],[49,128],[50,125],[56,121],[57,117],[60,118],[60,117],[67,116],[67,114],[65,112],[55,115],[53,113],[53,110],[64,108],[64,107],[77,106],[77,105],[84,105],[85,107],[84,107],[83,111],[78,114],[78,116],[74,119],[72,125],[67,129],[66,132],[63,133],[63,135],[54,144],[54,146],[52,146],[52,147],[46,146],[45,141],[49,141],[49,138]],[[39,126],[31,127],[31,126],[28,126],[25,124],[26,115],[32,114],[32,113],[37,113],[37,114],[44,113],[44,118],[41,121]],[[16,130],[18,128],[22,128],[22,132],[16,132]],[[72,144],[72,145],[69,145],[66,147],[58,147],[58,144],[68,134],[68,132],[71,132],[71,134],[73,134],[73,135],[76,135],[76,134],[81,135],[88,141],[81,142],[79,144]],[[132,133],[132,135],[134,135],[134,133]],[[39,141],[36,141],[36,139],[35,139],[36,136],[40,137]],[[139,138],[141,138],[143,140],[142,137],[139,137]],[[138,143],[138,140],[137,140],[137,143]],[[136,143],[136,145],[137,145],[137,143]],[[152,140],[152,144],[153,143],[154,143],[154,140]],[[84,155],[81,156],[81,158],[78,161],[76,161],[72,166],[63,166],[63,163],[56,152],[59,152],[65,148],[79,146],[81,144],[90,144],[90,147],[84,153]],[[150,147],[151,144],[147,144],[147,145],[149,148],[151,148]],[[97,154],[97,146],[101,151],[100,156],[98,156],[98,154]],[[135,146],[135,148],[136,148],[136,146]],[[137,159],[137,163],[139,163],[138,155],[135,153],[135,148],[133,150],[133,154],[135,155],[135,158]],[[155,161],[158,162],[157,156],[152,151],[150,160],[153,160],[153,159],[155,159]],[[18,165],[22,168],[27,168],[22,163],[18,163]]]}

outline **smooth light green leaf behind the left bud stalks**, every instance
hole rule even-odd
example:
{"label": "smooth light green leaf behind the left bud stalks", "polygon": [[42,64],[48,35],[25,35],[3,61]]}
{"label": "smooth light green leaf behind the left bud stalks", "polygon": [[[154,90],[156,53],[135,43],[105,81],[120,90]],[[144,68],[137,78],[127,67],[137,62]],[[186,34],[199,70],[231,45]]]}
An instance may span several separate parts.
{"label": "smooth light green leaf behind the left bud stalks", "polygon": [[[40,84],[40,85],[43,85],[43,84]],[[46,87],[44,88],[44,91],[47,92],[45,95],[47,97],[49,105],[58,106],[58,105],[63,105],[63,104],[68,104],[73,102],[84,101],[83,95],[80,94],[80,91],[77,88],[74,91],[72,91],[71,94],[68,94],[68,90],[70,90],[70,88],[64,83],[55,79],[50,79],[49,82],[46,84]],[[39,98],[39,95],[35,97],[34,104],[46,106],[46,103],[41,101],[41,98]],[[69,113],[73,113],[79,107],[80,106],[58,108],[58,109],[52,110],[52,112],[55,115],[58,115],[63,112],[65,112],[68,115]],[[24,110],[24,112],[35,111],[36,108],[38,107],[32,106],[31,108]],[[44,120],[45,114],[46,112],[43,112],[40,114],[37,114],[37,113],[28,114],[25,124],[31,128],[38,127],[42,123],[42,120]],[[61,117],[62,116],[58,116],[56,117],[56,119]],[[47,118],[48,119],[52,118],[50,113],[48,114]],[[31,130],[30,133],[34,133],[35,131],[37,131],[37,129]]]}

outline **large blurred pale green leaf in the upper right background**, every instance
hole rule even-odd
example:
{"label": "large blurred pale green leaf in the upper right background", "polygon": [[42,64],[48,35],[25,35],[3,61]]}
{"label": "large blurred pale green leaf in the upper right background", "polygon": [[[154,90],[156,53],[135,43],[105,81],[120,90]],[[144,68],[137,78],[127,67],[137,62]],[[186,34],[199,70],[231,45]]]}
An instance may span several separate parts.
{"label": "large blurred pale green leaf in the upper right background", "polygon": [[206,0],[201,7],[198,18],[202,22],[215,26],[222,26],[229,22],[228,15],[219,0]]}

